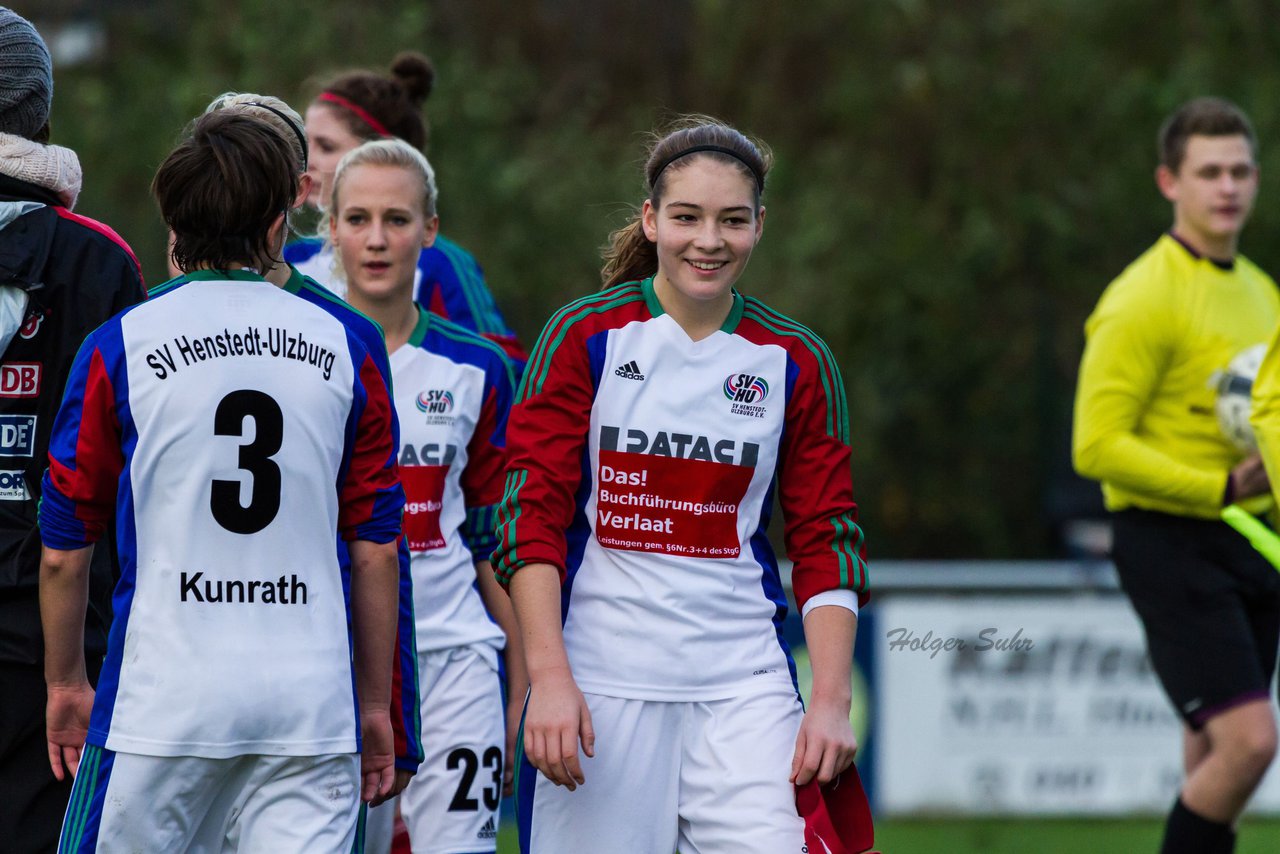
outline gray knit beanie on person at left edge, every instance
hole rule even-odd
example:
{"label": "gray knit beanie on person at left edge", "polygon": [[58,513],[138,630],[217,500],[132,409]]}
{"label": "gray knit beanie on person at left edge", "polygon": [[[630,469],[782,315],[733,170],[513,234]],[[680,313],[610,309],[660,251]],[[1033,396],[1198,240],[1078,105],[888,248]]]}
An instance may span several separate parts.
{"label": "gray knit beanie on person at left edge", "polygon": [[31,22],[0,6],[0,133],[28,140],[49,122],[54,63]]}

